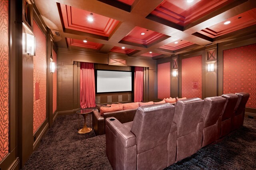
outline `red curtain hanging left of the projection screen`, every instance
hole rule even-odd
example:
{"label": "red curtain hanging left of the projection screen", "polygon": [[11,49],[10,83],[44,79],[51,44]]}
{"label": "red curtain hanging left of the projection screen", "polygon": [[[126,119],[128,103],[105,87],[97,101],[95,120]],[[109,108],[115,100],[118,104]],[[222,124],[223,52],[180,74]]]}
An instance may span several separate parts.
{"label": "red curtain hanging left of the projection screen", "polygon": [[80,63],[80,107],[96,107],[93,63]]}

